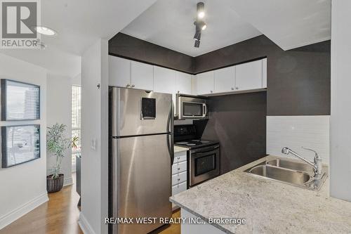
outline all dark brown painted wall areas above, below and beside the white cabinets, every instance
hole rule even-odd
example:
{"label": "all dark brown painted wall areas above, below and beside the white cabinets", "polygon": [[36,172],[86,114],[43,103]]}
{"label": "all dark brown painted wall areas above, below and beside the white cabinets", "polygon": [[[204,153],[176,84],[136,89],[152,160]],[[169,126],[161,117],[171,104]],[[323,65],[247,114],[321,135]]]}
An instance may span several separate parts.
{"label": "all dark brown painted wall areas above, below and beside the white cabinets", "polygon": [[330,115],[330,41],[283,51],[259,36],[192,58],[117,34],[109,53],[194,74],[267,57],[267,92],[211,97],[208,122],[194,122],[220,141],[222,173],[265,155],[266,115]]}

